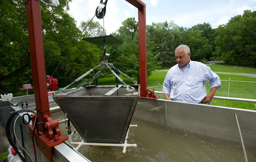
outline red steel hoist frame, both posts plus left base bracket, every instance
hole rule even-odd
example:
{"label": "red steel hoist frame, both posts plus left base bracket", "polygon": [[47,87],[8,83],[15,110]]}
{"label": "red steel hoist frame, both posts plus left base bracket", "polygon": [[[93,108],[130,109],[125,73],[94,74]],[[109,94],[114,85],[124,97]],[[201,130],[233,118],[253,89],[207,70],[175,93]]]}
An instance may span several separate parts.
{"label": "red steel hoist frame, both posts plus left base bracket", "polygon": [[[146,5],[141,0],[126,0],[138,8],[139,25],[139,65],[141,97],[147,97],[147,46],[146,46]],[[42,22],[40,12],[40,0],[26,0],[27,28],[31,57],[31,68],[34,83],[34,96],[37,121],[44,122],[47,126],[46,135],[39,136],[35,132],[35,141],[44,155],[53,161],[52,147],[67,140],[60,134],[58,122],[50,118],[49,101],[47,96],[47,82],[45,70],[45,58],[42,36]],[[33,126],[29,126],[30,136]],[[54,133],[53,131],[54,130]],[[39,128],[42,132],[42,127]],[[57,133],[56,133],[57,132]]]}

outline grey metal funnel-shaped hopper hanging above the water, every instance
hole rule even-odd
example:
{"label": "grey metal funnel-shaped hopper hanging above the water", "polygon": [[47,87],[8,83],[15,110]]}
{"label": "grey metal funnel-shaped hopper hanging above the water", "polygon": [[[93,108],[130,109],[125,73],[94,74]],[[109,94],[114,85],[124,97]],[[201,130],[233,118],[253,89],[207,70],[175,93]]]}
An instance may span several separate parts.
{"label": "grey metal funnel-shaped hopper hanging above the water", "polygon": [[86,86],[53,98],[85,142],[123,143],[140,96],[140,86],[132,87]]}

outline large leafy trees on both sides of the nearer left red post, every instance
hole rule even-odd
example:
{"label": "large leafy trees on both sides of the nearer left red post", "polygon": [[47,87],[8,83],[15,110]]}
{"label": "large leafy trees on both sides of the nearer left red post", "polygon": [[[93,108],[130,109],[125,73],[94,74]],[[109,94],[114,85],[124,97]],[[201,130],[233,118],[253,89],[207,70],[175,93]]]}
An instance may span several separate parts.
{"label": "large leafy trees on both sides of the nearer left red post", "polygon": [[[60,6],[40,4],[46,73],[54,73],[59,87],[99,62],[100,50],[77,39],[81,31],[66,12],[70,1],[62,0]],[[18,88],[32,84],[26,8],[23,0],[1,0],[0,7],[0,91],[19,95]]]}

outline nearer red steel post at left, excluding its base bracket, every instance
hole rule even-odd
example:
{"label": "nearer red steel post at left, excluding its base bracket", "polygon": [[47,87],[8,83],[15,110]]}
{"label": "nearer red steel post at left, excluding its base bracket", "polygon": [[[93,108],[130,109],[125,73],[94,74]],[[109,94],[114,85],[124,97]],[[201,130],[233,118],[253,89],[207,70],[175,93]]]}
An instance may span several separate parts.
{"label": "nearer red steel post at left, excluding its base bracket", "polygon": [[26,12],[34,97],[38,113],[37,121],[46,122],[43,121],[43,117],[46,115],[50,116],[50,112],[47,95],[40,1],[28,0]]}

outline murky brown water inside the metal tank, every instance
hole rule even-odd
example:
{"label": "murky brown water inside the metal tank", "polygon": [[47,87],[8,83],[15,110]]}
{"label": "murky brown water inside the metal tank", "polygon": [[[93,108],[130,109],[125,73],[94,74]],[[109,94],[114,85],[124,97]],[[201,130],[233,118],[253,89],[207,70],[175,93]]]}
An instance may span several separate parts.
{"label": "murky brown water inside the metal tank", "polygon": [[[60,120],[63,115],[52,118]],[[164,131],[137,121],[131,124],[138,127],[130,128],[128,143],[136,143],[137,147],[128,147],[126,154],[122,153],[122,147],[107,146],[81,146],[79,152],[92,162],[245,162],[242,146],[237,148],[176,131]],[[66,127],[60,125],[65,136]],[[75,133],[73,141],[81,140]],[[247,156],[249,162],[256,161],[255,151],[247,150]]]}

